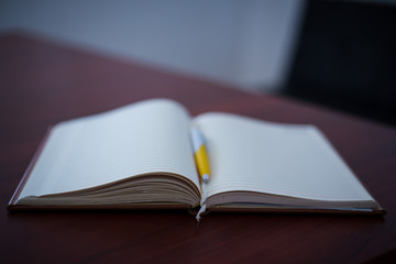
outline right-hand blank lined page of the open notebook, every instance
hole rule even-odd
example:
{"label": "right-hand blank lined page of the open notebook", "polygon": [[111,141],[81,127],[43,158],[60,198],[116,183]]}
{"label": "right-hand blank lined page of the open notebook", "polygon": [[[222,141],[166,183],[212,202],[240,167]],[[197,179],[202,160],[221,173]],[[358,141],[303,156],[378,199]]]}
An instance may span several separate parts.
{"label": "right-hand blank lined page of the open notebook", "polygon": [[241,190],[317,200],[372,200],[314,125],[226,113],[202,114],[194,122],[208,141],[209,196]]}

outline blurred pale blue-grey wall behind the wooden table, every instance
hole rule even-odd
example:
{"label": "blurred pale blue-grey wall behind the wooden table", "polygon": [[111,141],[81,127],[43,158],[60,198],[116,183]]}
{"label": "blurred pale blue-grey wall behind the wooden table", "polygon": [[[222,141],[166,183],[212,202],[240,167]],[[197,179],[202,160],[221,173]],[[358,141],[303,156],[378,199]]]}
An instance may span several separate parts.
{"label": "blurred pale blue-grey wall behind the wooden table", "polygon": [[251,90],[282,87],[304,0],[0,0],[24,30]]}

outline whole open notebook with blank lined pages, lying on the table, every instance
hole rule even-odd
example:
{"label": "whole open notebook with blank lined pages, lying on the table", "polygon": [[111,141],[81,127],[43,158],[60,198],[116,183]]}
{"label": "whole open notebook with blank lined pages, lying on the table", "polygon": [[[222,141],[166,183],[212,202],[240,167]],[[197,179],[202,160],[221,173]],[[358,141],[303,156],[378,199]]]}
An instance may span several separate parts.
{"label": "whole open notebook with blank lined pages, lying on the table", "polygon": [[385,212],[314,125],[191,118],[168,99],[53,127],[8,208],[199,207],[193,124],[207,140],[208,211]]}

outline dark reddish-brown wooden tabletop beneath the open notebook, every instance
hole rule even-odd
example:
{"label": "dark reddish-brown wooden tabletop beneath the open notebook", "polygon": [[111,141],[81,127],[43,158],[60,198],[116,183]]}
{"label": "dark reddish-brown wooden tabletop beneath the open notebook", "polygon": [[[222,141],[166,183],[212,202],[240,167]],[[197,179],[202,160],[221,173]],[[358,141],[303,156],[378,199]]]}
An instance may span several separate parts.
{"label": "dark reddish-brown wooden tabletop beneath the open notebook", "polygon": [[[166,97],[191,112],[314,123],[385,217],[6,210],[50,124]],[[0,36],[1,263],[361,263],[395,258],[396,130],[276,96],[175,75],[42,38]]]}

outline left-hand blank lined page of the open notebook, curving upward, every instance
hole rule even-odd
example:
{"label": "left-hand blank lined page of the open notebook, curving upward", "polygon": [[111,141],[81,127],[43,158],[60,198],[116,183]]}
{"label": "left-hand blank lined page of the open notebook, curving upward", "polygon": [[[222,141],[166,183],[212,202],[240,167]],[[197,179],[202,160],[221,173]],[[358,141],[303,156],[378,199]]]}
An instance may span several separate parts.
{"label": "left-hand blank lined page of the open notebook, curving upward", "polygon": [[20,198],[74,191],[147,173],[199,189],[183,106],[153,99],[54,127]]}

